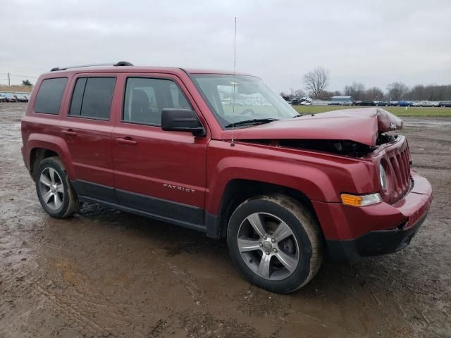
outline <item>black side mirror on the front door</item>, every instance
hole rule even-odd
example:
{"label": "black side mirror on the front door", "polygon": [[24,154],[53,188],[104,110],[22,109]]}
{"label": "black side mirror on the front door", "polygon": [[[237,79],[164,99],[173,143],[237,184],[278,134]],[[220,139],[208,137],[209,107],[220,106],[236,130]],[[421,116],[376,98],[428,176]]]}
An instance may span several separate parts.
{"label": "black side mirror on the front door", "polygon": [[205,136],[202,123],[190,109],[164,108],[161,111],[161,129],[165,131],[192,132],[194,136]]}

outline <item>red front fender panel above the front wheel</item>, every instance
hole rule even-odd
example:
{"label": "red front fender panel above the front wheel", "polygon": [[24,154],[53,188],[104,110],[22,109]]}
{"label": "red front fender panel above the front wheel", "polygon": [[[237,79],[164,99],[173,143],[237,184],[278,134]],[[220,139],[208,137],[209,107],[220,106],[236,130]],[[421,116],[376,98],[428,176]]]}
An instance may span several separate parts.
{"label": "red front fender panel above the front wheel", "polygon": [[209,144],[205,203],[208,213],[218,214],[223,192],[234,179],[289,187],[311,201],[332,203],[340,203],[341,192],[371,192],[377,184],[371,161],[312,152],[303,156],[304,151],[271,146],[258,145],[256,151],[256,147],[238,143],[230,147],[227,142],[218,141]]}

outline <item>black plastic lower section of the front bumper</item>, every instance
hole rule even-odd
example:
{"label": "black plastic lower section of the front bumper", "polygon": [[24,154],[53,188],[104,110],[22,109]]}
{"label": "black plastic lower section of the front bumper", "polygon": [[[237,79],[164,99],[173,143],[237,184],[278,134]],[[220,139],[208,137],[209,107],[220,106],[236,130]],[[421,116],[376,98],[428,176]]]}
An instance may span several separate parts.
{"label": "black plastic lower section of the front bumper", "polygon": [[427,212],[407,230],[371,231],[356,239],[326,239],[328,250],[334,261],[353,262],[368,256],[379,256],[404,249],[410,244],[426,219]]}

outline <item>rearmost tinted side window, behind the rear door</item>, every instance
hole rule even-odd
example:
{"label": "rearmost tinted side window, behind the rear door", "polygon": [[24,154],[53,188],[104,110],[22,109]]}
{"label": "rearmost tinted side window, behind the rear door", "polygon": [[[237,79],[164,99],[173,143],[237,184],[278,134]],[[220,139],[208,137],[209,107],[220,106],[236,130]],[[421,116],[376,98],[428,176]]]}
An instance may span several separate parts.
{"label": "rearmost tinted side window, behind the rear door", "polygon": [[46,79],[42,81],[39,92],[37,92],[35,106],[36,113],[54,114],[59,113],[61,99],[63,99],[64,89],[68,83],[67,77],[57,79]]}

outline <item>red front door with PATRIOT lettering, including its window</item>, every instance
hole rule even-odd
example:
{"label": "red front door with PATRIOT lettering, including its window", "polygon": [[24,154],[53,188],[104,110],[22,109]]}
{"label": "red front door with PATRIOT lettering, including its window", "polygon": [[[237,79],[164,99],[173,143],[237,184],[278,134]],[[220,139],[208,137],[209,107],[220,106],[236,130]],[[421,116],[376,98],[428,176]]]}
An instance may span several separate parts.
{"label": "red front door with PATRIOT lettering, including its window", "polygon": [[194,100],[175,75],[123,76],[123,109],[112,132],[119,202],[163,220],[202,225],[209,137],[161,130],[163,108],[198,113]]}

